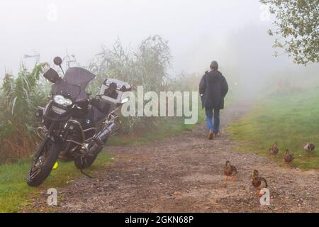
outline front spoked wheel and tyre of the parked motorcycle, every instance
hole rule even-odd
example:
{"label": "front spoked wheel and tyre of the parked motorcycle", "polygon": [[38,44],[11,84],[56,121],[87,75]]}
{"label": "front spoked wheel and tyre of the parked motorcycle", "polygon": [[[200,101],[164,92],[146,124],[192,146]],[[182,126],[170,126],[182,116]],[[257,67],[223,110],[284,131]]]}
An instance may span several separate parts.
{"label": "front spoked wheel and tyre of the parked motorcycle", "polygon": [[27,184],[37,187],[50,175],[60,152],[60,145],[50,138],[44,140],[43,149],[35,155],[27,176]]}

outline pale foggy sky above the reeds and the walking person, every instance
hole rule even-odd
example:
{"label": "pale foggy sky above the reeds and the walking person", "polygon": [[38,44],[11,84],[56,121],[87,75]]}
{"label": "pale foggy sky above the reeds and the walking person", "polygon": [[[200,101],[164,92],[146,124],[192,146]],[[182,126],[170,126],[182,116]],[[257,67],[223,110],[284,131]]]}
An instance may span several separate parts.
{"label": "pale foggy sky above the reeds and the walking person", "polygon": [[67,52],[86,65],[102,45],[120,39],[135,48],[155,34],[169,40],[172,75],[203,74],[217,60],[225,77],[257,91],[274,74],[318,70],[294,65],[284,52],[274,57],[272,20],[257,0],[1,1],[0,72],[32,67],[35,59],[24,55],[52,62]]}

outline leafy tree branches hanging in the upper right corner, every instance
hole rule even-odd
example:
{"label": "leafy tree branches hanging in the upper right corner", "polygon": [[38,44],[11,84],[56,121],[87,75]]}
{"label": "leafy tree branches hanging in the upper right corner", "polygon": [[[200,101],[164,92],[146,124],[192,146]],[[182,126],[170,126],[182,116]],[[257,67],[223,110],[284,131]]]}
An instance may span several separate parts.
{"label": "leafy tree branches hanging in the upper right corner", "polygon": [[274,14],[274,48],[284,48],[297,64],[319,61],[319,0],[260,0]]}

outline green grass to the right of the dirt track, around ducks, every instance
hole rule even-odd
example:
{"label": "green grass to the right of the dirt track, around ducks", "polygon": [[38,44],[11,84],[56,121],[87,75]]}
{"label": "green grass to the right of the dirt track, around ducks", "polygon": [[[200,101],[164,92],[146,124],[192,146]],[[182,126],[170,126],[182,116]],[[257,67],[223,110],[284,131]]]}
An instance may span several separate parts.
{"label": "green grass to the right of the dirt track, around ducks", "polygon": [[279,155],[274,158],[283,165],[286,149],[295,159],[292,166],[302,170],[319,169],[319,149],[306,155],[303,146],[319,142],[319,88],[307,92],[267,96],[254,105],[252,114],[228,126],[232,140],[242,142],[242,151],[268,155],[274,142]]}

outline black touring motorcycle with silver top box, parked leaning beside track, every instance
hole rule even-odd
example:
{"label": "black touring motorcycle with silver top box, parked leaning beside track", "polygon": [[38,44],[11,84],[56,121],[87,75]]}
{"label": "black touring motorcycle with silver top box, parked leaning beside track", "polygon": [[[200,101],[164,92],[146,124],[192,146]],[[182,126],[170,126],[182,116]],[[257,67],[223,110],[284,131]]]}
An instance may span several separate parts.
{"label": "black touring motorcycle with silver top box, parked leaning beside track", "polygon": [[[62,70],[61,57],[55,57],[55,65]],[[52,99],[35,111],[41,126],[36,129],[42,142],[35,152],[27,176],[27,184],[42,184],[57,160],[74,161],[83,172],[90,167],[111,135],[121,127],[116,111],[128,101],[123,93],[131,90],[130,84],[118,79],[106,79],[101,92],[93,99],[85,89],[95,74],[81,67],[62,70],[61,78],[50,66],[43,76],[52,82]]]}

